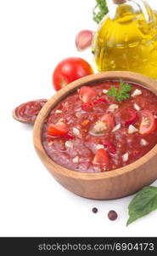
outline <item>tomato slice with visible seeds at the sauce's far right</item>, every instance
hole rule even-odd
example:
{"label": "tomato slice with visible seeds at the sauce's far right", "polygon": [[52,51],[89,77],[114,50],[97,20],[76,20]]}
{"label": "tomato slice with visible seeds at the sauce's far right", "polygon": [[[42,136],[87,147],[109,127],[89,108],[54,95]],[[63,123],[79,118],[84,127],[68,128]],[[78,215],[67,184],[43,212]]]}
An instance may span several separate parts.
{"label": "tomato slice with visible seeds at the sauce's far right", "polygon": [[140,134],[149,134],[157,128],[157,121],[149,110],[141,111],[142,120],[139,127]]}

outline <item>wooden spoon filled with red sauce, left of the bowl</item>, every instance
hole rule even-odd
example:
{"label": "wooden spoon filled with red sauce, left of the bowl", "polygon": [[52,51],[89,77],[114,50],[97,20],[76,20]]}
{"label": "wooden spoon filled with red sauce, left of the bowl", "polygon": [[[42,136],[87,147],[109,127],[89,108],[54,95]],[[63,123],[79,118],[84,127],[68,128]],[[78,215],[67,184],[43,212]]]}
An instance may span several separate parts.
{"label": "wooden spoon filled with red sauce, left of the bowl", "polygon": [[43,105],[48,102],[45,99],[25,102],[14,109],[13,117],[17,121],[33,124]]}

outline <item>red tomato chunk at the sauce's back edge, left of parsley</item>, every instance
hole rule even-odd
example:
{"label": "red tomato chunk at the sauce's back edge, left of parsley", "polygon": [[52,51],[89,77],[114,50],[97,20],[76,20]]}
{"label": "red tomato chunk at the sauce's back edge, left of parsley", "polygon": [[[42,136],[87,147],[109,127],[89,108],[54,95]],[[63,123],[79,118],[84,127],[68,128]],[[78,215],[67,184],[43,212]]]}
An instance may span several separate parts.
{"label": "red tomato chunk at the sauce's back edge, left of parsley", "polygon": [[82,86],[79,90],[79,96],[84,103],[92,102],[97,96],[96,91],[89,86]]}

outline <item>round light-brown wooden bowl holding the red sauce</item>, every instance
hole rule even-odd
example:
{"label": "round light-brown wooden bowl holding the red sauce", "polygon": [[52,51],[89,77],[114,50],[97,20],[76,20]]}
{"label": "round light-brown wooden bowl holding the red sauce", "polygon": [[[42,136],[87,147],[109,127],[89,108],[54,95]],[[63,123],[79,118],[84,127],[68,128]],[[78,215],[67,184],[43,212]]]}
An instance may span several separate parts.
{"label": "round light-brown wooden bowl holding the red sauce", "polygon": [[72,91],[82,85],[93,85],[105,80],[123,79],[141,84],[157,94],[157,82],[141,74],[128,72],[97,73],[75,82],[59,90],[42,108],[34,126],[34,146],[42,163],[53,177],[76,195],[91,199],[109,200],[131,195],[144,186],[153,183],[157,178],[157,145],[139,160],[112,172],[82,173],[59,166],[48,156],[42,146],[42,126],[51,109]]}

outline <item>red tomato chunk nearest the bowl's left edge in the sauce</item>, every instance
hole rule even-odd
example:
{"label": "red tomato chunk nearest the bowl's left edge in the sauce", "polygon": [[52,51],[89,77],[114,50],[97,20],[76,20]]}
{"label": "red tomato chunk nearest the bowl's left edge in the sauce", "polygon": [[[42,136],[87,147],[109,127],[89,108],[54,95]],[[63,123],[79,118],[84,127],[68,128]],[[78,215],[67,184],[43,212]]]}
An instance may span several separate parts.
{"label": "red tomato chunk nearest the bowl's left edge in the sauce", "polygon": [[50,136],[59,137],[65,134],[68,134],[68,127],[63,122],[51,125],[48,128],[48,135]]}

